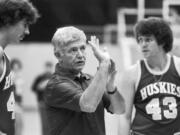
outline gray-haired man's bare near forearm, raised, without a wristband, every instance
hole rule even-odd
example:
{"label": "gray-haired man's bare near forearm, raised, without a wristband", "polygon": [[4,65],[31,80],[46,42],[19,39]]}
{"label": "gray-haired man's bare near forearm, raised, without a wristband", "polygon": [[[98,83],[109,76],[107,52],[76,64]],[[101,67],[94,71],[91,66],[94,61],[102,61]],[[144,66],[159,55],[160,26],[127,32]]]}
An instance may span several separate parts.
{"label": "gray-haired man's bare near forearm, raised, without a wristband", "polygon": [[82,111],[94,112],[106,89],[109,61],[102,62],[94,79],[80,98]]}

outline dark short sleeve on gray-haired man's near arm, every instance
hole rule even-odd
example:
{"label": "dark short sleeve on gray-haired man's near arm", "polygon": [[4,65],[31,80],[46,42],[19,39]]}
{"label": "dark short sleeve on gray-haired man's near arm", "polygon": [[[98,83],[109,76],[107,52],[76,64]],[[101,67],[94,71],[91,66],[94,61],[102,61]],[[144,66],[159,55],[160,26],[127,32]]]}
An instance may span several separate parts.
{"label": "dark short sleeve on gray-haired man's near arm", "polygon": [[82,92],[82,88],[72,80],[50,80],[44,93],[44,100],[51,107],[80,112],[79,100]]}

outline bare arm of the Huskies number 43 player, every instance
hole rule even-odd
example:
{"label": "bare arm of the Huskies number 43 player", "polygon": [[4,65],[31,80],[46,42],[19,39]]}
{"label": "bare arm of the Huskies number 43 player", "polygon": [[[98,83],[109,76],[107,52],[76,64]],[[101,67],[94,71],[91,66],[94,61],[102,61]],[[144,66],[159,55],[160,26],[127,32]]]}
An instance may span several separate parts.
{"label": "bare arm of the Huskies number 43 player", "polygon": [[135,77],[137,77],[136,67],[132,67],[122,73],[119,90],[125,100],[125,113],[120,115],[119,135],[129,135],[133,101],[135,95]]}

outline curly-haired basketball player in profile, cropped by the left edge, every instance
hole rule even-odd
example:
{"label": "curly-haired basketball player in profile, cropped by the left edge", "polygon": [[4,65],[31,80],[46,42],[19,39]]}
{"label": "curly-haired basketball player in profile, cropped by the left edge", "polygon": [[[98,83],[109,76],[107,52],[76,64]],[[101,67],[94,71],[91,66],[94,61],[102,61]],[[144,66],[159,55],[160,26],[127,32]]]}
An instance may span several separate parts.
{"label": "curly-haired basketball player in profile, cropped by the left edge", "polygon": [[14,135],[14,85],[10,62],[4,49],[29,34],[38,12],[26,0],[0,1],[0,135]]}

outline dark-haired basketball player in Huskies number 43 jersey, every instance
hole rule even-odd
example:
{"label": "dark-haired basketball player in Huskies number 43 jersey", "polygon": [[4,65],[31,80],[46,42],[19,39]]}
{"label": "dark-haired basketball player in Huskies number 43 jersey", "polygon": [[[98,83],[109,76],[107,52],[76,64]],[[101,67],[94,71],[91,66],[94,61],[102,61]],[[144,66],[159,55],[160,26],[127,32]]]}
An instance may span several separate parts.
{"label": "dark-haired basketball player in Huskies number 43 jersey", "polygon": [[136,24],[135,36],[144,59],[120,81],[126,104],[120,135],[180,135],[180,58],[169,54],[172,30],[163,19],[150,17]]}

